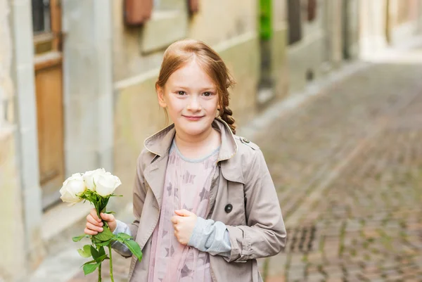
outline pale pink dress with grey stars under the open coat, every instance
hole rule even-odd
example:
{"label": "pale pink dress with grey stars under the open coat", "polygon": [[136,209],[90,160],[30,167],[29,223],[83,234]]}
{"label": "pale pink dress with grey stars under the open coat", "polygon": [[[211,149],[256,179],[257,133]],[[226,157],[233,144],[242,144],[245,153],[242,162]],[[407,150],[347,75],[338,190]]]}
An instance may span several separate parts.
{"label": "pale pink dress with grey stars under the open coat", "polygon": [[174,210],[189,210],[207,217],[210,188],[218,149],[202,160],[184,158],[173,142],[170,149],[160,220],[153,232],[148,282],[211,282],[207,252],[181,245],[170,221]]}

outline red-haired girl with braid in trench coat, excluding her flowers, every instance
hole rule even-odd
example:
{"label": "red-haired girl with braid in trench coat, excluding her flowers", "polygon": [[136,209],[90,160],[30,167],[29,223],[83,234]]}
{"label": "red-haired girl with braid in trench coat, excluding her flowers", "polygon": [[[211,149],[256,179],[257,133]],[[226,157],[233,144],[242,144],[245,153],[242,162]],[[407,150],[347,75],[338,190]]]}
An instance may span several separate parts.
{"label": "red-haired girl with braid in trench coat, excluding her flowers", "polygon": [[[174,124],[146,139],[138,158],[132,224],[101,214],[133,236],[131,282],[262,281],[257,258],[286,245],[279,200],[258,146],[235,134],[222,58],[201,41],[172,44],[156,83]],[[92,210],[85,233],[103,229]],[[120,244],[121,255],[132,253]]]}

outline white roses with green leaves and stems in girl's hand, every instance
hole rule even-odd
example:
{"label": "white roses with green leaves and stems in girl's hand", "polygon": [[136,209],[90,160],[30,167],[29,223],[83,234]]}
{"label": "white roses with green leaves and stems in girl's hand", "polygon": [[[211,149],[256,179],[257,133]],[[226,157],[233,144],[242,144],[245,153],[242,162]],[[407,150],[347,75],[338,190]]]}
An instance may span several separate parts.
{"label": "white roses with green leaves and stems in girl's hand", "polygon": [[[63,202],[70,203],[70,205],[75,205],[82,202],[82,200],[88,200],[94,205],[98,218],[101,219],[101,212],[113,213],[106,211],[106,207],[110,197],[116,196],[114,191],[120,184],[122,183],[118,177],[106,172],[104,169],[96,169],[84,174],[77,173],[63,182],[63,186],[60,188],[60,198]],[[91,238],[91,244],[84,245],[82,249],[77,250],[82,257],[92,257],[92,260],[83,264],[84,274],[90,274],[98,269],[98,282],[101,282],[101,263],[105,259],[110,259],[110,278],[114,282],[111,244],[115,241],[126,245],[139,261],[142,259],[142,252],[138,243],[126,233],[113,234],[107,222],[103,221],[103,231],[101,233],[94,236],[84,234],[74,237],[72,240],[78,242],[82,238]],[[108,255],[105,247],[108,248]]]}

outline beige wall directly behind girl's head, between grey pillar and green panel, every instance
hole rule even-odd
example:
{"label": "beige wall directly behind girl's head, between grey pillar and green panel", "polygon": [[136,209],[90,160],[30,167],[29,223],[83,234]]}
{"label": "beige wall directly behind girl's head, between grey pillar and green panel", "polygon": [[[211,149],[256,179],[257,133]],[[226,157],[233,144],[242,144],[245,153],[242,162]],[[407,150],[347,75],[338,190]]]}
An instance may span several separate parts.
{"label": "beige wall directly behind girl's head, between grey pillar and green panel", "polygon": [[[203,0],[200,12],[188,18],[186,1],[174,11],[153,11],[142,27],[124,27],[122,1],[113,1],[113,74],[115,91],[115,173],[122,179],[124,201],[132,200],[136,157],[146,137],[160,130],[165,115],[155,96],[155,80],[166,46],[164,39],[190,37],[210,44],[222,56],[238,82],[231,108],[239,124],[255,113],[260,52],[257,38],[257,2],[253,0]],[[168,18],[178,20],[174,25]],[[161,20],[160,20],[161,19]],[[185,23],[186,21],[186,23]],[[166,34],[168,32],[169,34]],[[171,33],[171,34],[170,34]],[[171,42],[169,42],[170,44]],[[153,50],[151,46],[160,46]],[[144,52],[148,49],[148,52]]]}

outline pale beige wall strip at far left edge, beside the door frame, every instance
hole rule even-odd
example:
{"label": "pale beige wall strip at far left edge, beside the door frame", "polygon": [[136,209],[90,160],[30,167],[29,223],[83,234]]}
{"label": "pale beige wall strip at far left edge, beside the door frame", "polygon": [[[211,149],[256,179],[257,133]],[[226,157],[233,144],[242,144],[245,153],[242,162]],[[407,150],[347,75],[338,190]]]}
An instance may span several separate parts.
{"label": "pale beige wall strip at far left edge, beside the door frame", "polygon": [[[23,214],[19,186],[18,162],[13,124],[13,82],[11,65],[13,46],[11,38],[10,7],[0,0],[0,214],[1,223],[0,281],[10,281],[25,269]],[[3,105],[6,105],[4,113]],[[6,119],[4,118],[6,115]],[[4,259],[7,258],[7,259]],[[9,280],[10,279],[10,280]]]}

